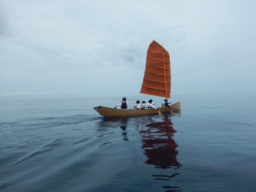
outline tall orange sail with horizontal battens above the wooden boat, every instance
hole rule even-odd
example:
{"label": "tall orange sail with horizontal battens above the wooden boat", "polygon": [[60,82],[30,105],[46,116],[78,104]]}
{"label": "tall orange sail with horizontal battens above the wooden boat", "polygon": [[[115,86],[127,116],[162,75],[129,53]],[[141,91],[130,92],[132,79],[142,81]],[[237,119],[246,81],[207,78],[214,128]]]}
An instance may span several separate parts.
{"label": "tall orange sail with horizontal battens above the wooden boat", "polygon": [[148,49],[141,92],[159,97],[171,97],[171,63],[169,53],[153,41]]}

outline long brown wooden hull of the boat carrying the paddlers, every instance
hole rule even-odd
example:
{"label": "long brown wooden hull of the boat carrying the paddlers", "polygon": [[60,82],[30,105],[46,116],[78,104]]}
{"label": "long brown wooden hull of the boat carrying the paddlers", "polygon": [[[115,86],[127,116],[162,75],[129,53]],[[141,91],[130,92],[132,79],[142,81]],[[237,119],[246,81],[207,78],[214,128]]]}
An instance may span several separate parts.
{"label": "long brown wooden hull of the boat carrying the paddlers", "polygon": [[[180,111],[181,103],[177,102],[171,105],[173,112]],[[142,109],[142,110],[134,110],[134,109],[114,109],[109,107],[98,106],[94,107],[95,111],[97,111],[100,115],[105,117],[124,117],[124,116],[137,116],[137,115],[149,115],[149,114],[158,114],[156,109]],[[161,113],[170,113],[170,109],[168,107],[159,107],[158,110]]]}

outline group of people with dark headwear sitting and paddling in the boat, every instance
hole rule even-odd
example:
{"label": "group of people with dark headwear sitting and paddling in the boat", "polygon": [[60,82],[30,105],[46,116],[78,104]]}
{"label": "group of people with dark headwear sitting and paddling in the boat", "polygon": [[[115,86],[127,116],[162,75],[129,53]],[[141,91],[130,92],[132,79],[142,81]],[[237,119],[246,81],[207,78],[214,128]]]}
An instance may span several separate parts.
{"label": "group of people with dark headwear sitting and paddling in the boat", "polygon": [[[145,101],[142,101],[141,104],[140,103],[141,101],[139,100],[136,101],[136,103],[134,104],[135,110],[151,109],[151,108],[158,110],[158,108],[156,107],[156,104],[153,102],[152,99],[150,99],[148,103],[146,103]],[[164,102],[162,103],[162,107],[168,107],[172,111],[172,108],[169,104],[171,104],[171,102],[168,103],[168,99],[165,99]],[[119,104],[117,104],[117,106],[120,106],[121,109],[127,109],[127,105],[129,105],[129,102],[126,101],[125,97],[123,97],[122,101]]]}

